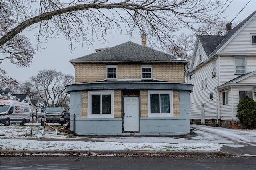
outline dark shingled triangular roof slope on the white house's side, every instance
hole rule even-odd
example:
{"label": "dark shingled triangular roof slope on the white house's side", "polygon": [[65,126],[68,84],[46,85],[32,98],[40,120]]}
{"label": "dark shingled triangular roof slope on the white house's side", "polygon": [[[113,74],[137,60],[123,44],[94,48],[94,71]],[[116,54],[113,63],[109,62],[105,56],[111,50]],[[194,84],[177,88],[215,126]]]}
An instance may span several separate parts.
{"label": "dark shingled triangular roof slope on the white house's side", "polygon": [[212,53],[212,51],[216,49],[216,47],[226,36],[197,35],[197,37],[200,40],[207,57],[210,57],[209,55]]}

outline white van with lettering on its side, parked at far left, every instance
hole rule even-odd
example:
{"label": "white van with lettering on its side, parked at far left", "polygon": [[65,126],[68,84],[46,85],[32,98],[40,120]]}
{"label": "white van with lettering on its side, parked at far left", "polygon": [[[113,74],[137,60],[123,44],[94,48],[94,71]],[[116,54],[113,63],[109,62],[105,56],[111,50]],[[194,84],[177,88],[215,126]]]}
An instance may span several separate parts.
{"label": "white van with lettering on its side, parked at far left", "polygon": [[28,103],[14,100],[0,100],[0,123],[9,126],[10,123],[20,123],[24,126],[30,120]]}

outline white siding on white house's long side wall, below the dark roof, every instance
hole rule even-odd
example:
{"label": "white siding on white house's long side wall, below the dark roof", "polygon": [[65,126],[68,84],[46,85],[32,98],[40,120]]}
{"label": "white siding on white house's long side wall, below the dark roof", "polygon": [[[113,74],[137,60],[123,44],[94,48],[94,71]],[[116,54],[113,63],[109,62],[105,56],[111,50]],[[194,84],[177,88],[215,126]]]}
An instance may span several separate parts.
{"label": "white siding on white house's long side wall, below the dark roof", "polygon": [[[218,60],[216,60],[218,63]],[[218,65],[216,65],[218,71]],[[207,78],[207,88],[201,90],[201,80]],[[193,92],[190,93],[190,118],[201,119],[201,104],[205,103],[205,119],[216,117],[216,92],[214,88],[218,86],[218,78],[212,78],[212,62],[205,64],[202,68],[196,70],[196,77],[188,80],[188,83],[193,84]],[[202,93],[203,92],[203,93]],[[209,94],[212,93],[213,99],[209,100]]]}

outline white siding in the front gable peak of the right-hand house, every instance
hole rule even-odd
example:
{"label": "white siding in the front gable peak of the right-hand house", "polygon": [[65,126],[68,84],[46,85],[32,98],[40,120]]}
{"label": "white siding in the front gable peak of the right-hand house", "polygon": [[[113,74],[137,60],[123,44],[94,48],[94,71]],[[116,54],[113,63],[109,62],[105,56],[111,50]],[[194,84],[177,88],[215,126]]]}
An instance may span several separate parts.
{"label": "white siding in the front gable peak of the right-hand house", "polygon": [[255,53],[256,45],[251,45],[251,33],[255,33],[256,17],[222,49],[221,53]]}

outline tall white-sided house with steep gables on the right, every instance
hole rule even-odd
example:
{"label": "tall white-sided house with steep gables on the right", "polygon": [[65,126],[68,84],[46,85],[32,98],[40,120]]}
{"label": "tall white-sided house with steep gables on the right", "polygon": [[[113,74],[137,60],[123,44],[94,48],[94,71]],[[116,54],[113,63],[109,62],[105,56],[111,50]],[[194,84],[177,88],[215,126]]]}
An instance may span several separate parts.
{"label": "tall white-sided house with steep gables on the right", "polygon": [[240,127],[239,100],[256,101],[256,11],[225,36],[197,35],[186,72],[193,84],[190,122]]}

